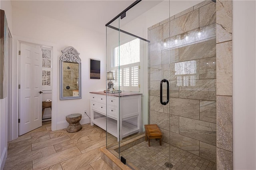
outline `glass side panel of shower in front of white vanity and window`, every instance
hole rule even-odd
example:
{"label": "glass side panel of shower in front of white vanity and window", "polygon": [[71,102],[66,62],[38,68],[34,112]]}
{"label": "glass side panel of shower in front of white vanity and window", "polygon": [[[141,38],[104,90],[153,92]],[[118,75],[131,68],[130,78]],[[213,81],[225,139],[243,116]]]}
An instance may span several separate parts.
{"label": "glass side panel of shower in front of white vanity and window", "polygon": [[142,40],[119,26],[120,17],[106,27],[106,144],[110,152],[121,158],[120,152],[127,147],[125,141],[142,133],[140,77],[143,75]]}

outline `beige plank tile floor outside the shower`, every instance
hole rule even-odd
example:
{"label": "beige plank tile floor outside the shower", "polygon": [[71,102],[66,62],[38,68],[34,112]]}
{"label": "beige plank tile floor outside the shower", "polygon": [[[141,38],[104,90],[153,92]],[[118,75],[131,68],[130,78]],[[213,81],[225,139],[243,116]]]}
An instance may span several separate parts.
{"label": "beige plank tile floor outside the shower", "polygon": [[[4,170],[111,170],[101,159],[106,132],[97,126],[82,125],[82,130],[51,131],[51,123],[8,142]],[[115,141],[112,135],[108,142]]]}

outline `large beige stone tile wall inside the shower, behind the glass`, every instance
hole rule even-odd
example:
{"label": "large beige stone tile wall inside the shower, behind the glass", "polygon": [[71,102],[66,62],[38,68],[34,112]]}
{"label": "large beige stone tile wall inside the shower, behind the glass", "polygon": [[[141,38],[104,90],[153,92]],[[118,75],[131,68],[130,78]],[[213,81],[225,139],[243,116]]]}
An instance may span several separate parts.
{"label": "large beige stone tile wall inside the shower, behind the glass", "polygon": [[[196,36],[198,28],[216,35],[216,3],[204,1],[148,28],[150,124],[160,127],[164,142],[216,162],[216,36],[171,46],[170,54],[164,45]],[[170,82],[166,106],[162,79]]]}

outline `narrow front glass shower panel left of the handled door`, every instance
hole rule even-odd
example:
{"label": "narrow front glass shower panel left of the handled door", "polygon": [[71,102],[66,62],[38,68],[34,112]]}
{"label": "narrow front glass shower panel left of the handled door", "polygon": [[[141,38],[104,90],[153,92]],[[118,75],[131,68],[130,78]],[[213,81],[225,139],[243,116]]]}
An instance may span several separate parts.
{"label": "narrow front glass shower panel left of the handled door", "polygon": [[120,76],[119,18],[106,27],[106,148],[119,158]]}

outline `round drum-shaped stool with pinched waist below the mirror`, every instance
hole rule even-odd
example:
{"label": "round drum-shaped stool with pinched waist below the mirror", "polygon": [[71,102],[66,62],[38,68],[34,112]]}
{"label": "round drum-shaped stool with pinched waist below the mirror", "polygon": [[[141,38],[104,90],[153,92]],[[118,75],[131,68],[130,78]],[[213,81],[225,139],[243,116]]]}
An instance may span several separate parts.
{"label": "round drum-shaped stool with pinched waist below the mirror", "polygon": [[82,114],[75,113],[66,116],[66,121],[69,123],[67,131],[68,132],[78,132],[82,129],[82,125],[80,124],[80,120],[82,119]]}

